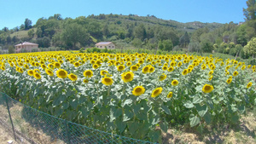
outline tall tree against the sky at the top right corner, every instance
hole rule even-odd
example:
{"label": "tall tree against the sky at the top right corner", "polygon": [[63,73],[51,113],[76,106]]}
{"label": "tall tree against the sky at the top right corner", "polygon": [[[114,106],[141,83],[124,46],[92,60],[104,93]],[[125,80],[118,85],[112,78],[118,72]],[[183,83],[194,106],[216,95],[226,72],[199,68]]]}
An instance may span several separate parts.
{"label": "tall tree against the sky at the top right corner", "polygon": [[247,0],[247,9],[243,8],[243,14],[246,20],[256,20],[256,1]]}

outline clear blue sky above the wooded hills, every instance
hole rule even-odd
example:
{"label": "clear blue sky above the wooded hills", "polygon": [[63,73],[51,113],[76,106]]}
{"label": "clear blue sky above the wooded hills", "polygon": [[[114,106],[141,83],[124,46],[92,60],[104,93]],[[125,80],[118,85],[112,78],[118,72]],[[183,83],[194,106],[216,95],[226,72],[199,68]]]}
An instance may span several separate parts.
{"label": "clear blue sky above the wooded hills", "polygon": [[62,18],[89,14],[154,14],[163,20],[179,22],[238,23],[244,21],[246,0],[0,0],[0,29],[24,24],[34,25],[39,18],[61,14]]}

